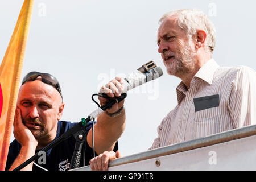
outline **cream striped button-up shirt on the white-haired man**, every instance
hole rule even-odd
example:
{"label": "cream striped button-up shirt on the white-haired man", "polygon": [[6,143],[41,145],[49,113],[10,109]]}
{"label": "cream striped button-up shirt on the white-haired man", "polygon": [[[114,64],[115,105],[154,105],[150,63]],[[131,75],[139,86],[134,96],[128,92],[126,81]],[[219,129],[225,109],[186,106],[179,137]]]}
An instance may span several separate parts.
{"label": "cream striped button-up shirt on the white-haired man", "polygon": [[249,67],[219,67],[211,59],[191,88],[181,82],[176,90],[178,105],[158,126],[149,150],[256,124],[256,73]]}

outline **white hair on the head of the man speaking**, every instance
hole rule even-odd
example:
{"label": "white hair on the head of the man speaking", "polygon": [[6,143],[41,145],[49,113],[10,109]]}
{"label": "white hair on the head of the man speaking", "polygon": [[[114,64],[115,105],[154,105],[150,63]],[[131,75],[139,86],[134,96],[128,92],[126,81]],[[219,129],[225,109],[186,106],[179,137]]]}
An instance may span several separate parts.
{"label": "white hair on the head of the man speaking", "polygon": [[205,40],[205,51],[212,54],[216,45],[216,30],[210,18],[201,10],[184,9],[168,12],[160,18],[159,23],[162,23],[166,18],[175,17],[178,26],[183,30],[191,40],[196,36],[197,30],[204,30],[207,34]]}

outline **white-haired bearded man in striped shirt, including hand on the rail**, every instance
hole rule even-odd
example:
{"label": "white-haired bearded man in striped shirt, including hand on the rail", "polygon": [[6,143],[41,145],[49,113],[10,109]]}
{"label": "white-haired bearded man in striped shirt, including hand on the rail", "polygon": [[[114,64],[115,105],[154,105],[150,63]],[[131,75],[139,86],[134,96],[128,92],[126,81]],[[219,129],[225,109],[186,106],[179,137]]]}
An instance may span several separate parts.
{"label": "white-haired bearded man in striped shirt, including hand on the rail", "polygon": [[[176,88],[178,104],[158,126],[158,138],[149,149],[255,124],[255,71],[218,66],[212,57],[216,31],[208,16],[200,10],[177,10],[159,22],[158,52],[168,74],[182,81]],[[104,152],[90,160],[90,167],[107,169],[109,159],[119,156]]]}

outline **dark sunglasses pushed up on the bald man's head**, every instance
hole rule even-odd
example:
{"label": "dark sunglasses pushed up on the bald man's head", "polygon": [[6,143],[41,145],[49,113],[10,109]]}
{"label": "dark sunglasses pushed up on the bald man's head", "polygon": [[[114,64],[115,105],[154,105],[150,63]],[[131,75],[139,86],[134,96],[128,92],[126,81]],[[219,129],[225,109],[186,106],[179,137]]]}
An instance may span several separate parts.
{"label": "dark sunglasses pushed up on the bald man's head", "polygon": [[40,72],[27,73],[27,75],[22,80],[22,85],[28,81],[35,81],[36,78],[38,78],[39,76],[41,77],[42,82],[48,85],[52,85],[54,88],[56,88],[56,90],[60,93],[60,96],[62,98],[59,81],[57,81],[57,79],[49,73],[40,73]]}

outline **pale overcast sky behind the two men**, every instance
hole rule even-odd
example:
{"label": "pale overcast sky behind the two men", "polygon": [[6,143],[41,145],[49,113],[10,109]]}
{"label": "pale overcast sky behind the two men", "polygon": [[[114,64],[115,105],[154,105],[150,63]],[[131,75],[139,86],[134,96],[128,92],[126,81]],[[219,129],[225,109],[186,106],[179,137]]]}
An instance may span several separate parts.
{"label": "pale overcast sky behind the two men", "polygon": [[[1,60],[22,3],[0,1]],[[91,96],[100,86],[154,60],[164,75],[130,90],[125,101],[126,130],[119,139],[123,155],[143,152],[158,136],[162,119],[177,105],[176,86],[181,81],[167,75],[157,52],[161,16],[177,9],[203,10],[216,26],[217,63],[255,70],[255,5],[251,0],[35,0],[22,78],[30,71],[57,77],[65,102],[62,120],[79,122],[97,109]]]}

